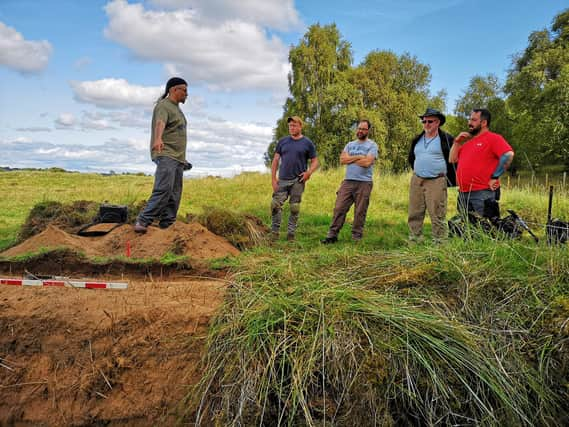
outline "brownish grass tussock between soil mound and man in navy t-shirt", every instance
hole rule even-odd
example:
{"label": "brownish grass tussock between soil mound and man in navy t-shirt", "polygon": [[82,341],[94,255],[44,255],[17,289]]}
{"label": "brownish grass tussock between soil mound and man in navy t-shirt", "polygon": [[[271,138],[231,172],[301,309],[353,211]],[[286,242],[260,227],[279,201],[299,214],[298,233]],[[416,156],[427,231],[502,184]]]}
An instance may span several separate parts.
{"label": "brownish grass tussock between soil mound and man in navy t-shirt", "polygon": [[187,221],[199,222],[240,250],[266,243],[269,232],[263,221],[254,215],[211,206],[204,207],[200,215],[189,215]]}

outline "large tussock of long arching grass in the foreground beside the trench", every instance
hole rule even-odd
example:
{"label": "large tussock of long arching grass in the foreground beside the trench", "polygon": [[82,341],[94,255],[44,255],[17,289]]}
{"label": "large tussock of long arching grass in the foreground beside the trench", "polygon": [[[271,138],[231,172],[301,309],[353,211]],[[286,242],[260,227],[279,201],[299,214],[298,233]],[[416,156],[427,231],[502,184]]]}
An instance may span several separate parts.
{"label": "large tussock of long arching grass in the foreground beside the trench", "polygon": [[[555,419],[555,394],[537,369],[504,350],[508,336],[450,306],[426,303],[423,292],[401,295],[393,285],[402,269],[377,292],[386,269],[385,259],[381,268],[369,266],[376,255],[353,262],[345,276],[333,268],[291,274],[290,259],[239,275],[211,329],[206,374],[190,393],[199,397],[189,406],[197,423],[533,425]],[[402,255],[389,265],[411,260]],[[364,265],[368,270],[350,277]],[[435,263],[424,257],[416,265],[424,271]]]}

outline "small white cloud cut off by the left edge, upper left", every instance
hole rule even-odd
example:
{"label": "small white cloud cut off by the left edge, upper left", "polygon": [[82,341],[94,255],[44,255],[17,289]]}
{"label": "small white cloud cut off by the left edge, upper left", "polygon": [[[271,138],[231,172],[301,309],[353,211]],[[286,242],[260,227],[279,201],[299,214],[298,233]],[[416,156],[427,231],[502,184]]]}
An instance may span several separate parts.
{"label": "small white cloud cut off by the left edge, upper left", "polygon": [[0,22],[0,65],[24,73],[42,71],[52,47],[47,40],[28,41],[14,28]]}

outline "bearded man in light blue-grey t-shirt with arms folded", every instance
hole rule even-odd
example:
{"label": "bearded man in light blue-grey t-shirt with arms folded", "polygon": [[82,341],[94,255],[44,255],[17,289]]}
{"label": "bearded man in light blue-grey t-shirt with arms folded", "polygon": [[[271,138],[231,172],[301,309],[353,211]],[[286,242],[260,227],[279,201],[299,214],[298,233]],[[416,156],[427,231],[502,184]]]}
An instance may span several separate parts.
{"label": "bearded man in light blue-grey t-shirt with arms folded", "polygon": [[334,218],[323,244],[336,243],[338,233],[346,221],[346,214],[354,205],[354,223],[352,224],[352,240],[360,241],[369,206],[369,196],[373,187],[373,165],[377,158],[377,144],[368,139],[371,129],[369,120],[358,123],[358,139],[348,142],[340,155],[340,163],[347,165],[346,179],[342,181],[336,193]]}

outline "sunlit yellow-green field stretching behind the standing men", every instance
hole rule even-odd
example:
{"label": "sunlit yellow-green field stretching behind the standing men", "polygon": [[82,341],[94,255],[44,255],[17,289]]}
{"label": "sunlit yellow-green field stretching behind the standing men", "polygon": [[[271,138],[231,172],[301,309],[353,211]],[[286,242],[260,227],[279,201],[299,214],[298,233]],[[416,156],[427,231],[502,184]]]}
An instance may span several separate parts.
{"label": "sunlit yellow-green field stretching behind the standing men", "polygon": [[[325,235],[343,173],[343,170],[319,171],[308,182],[300,217],[301,242],[317,242]],[[559,174],[555,178],[547,177],[548,183],[556,185],[554,215],[568,218],[568,187],[562,187],[562,180]],[[366,225],[366,246],[388,249],[404,243],[407,236],[408,181],[408,174],[383,175],[376,172]],[[149,176],[47,171],[0,173],[0,200],[3,201],[0,204],[0,249],[15,242],[19,227],[36,203],[91,200],[128,204],[145,200],[150,195],[152,182],[153,178]],[[506,177],[503,180],[503,209],[515,209],[533,227],[541,230],[547,214],[548,190],[545,183],[545,176],[534,179],[527,174],[521,178]],[[269,223],[271,187],[268,174],[245,173],[230,179],[188,179],[184,185],[179,212],[182,217],[214,206],[251,213]],[[455,188],[449,189],[448,200],[450,217],[456,212]],[[341,238],[349,238],[349,227],[344,227]]]}

